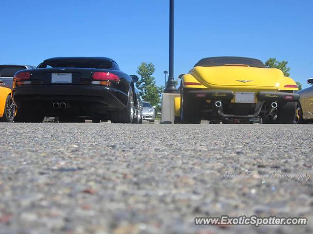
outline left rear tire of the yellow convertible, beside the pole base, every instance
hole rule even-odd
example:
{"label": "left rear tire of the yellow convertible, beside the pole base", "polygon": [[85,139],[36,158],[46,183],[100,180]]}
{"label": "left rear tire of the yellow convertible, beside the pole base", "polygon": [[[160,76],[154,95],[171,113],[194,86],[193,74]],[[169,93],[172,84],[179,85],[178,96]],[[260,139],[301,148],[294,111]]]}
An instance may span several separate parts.
{"label": "left rear tire of the yellow convertible, beside the pole base", "polygon": [[187,90],[180,85],[180,122],[201,123],[200,102],[188,95]]}

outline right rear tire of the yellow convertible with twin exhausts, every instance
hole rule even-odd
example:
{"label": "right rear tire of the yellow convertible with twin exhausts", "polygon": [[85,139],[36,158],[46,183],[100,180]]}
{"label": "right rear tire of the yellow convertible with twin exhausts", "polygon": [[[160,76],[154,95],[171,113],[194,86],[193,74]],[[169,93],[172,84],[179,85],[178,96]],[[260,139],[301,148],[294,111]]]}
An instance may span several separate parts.
{"label": "right rear tire of the yellow convertible with twin exhausts", "polygon": [[280,102],[278,106],[277,121],[280,124],[297,124],[296,109],[297,102]]}

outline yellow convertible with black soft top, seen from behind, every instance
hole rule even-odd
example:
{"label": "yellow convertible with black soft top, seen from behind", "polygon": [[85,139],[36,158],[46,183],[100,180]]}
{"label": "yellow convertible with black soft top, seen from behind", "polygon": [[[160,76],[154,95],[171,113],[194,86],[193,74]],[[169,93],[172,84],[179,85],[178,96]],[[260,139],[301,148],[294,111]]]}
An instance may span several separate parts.
{"label": "yellow convertible with black soft top, seen from behind", "polygon": [[176,123],[298,122],[297,84],[258,59],[205,58],[179,78]]}

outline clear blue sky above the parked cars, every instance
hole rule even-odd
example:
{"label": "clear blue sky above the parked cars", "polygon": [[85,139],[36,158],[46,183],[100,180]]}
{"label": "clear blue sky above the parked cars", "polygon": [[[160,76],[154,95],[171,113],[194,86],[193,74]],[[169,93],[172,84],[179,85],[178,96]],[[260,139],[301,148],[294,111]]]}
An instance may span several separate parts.
{"label": "clear blue sky above the parked cars", "polygon": [[[312,0],[176,0],[175,7],[175,77],[204,57],[275,57],[309,86]],[[142,61],[153,62],[164,85],[169,0],[1,0],[0,9],[0,64],[105,56],[135,74]]]}

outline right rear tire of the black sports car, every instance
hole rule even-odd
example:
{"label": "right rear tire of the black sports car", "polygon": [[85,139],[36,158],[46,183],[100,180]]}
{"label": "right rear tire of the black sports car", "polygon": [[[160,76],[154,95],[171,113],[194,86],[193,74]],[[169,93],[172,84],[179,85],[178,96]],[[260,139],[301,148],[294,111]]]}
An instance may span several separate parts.
{"label": "right rear tire of the black sports car", "polygon": [[134,118],[134,95],[133,89],[130,87],[128,91],[128,101],[123,110],[111,112],[112,123],[132,123]]}

